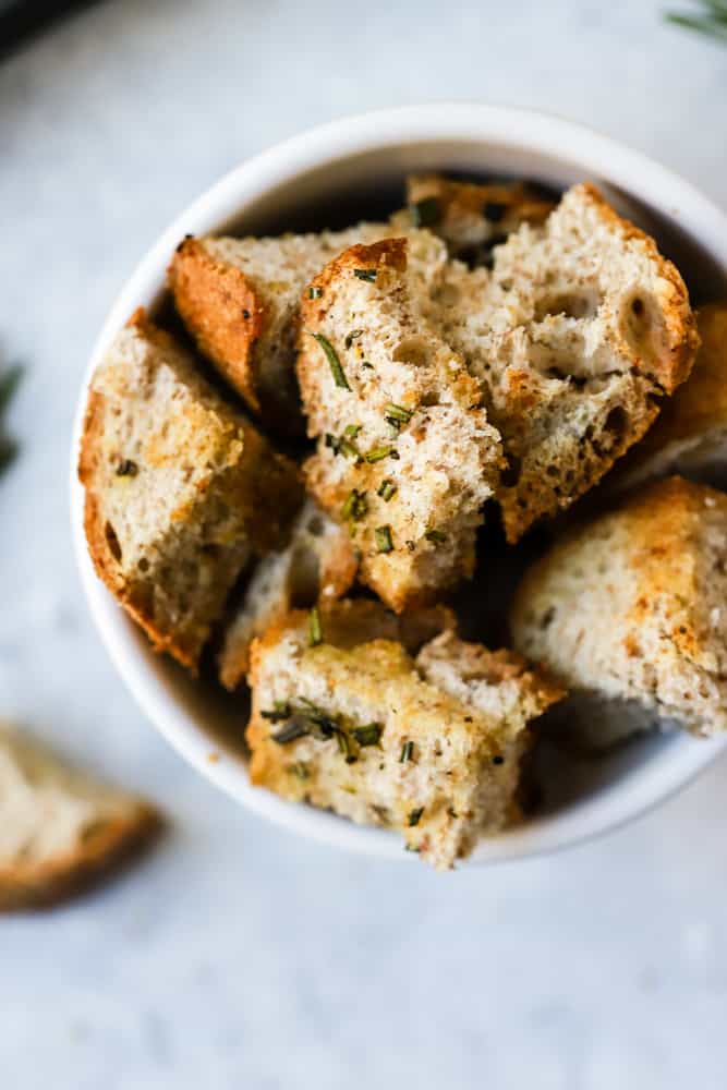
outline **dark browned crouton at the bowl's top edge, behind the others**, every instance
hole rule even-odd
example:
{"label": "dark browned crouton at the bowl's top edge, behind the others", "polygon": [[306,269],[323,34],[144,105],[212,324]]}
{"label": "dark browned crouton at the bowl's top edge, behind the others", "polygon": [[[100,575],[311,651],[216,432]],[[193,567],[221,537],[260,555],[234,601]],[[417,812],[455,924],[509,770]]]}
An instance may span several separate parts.
{"label": "dark browned crouton at the bowl's top edge, behind the others", "polygon": [[489,265],[494,246],[521,223],[542,223],[554,208],[526,182],[460,182],[441,174],[410,174],[407,205],[410,222],[428,227],[469,265]]}

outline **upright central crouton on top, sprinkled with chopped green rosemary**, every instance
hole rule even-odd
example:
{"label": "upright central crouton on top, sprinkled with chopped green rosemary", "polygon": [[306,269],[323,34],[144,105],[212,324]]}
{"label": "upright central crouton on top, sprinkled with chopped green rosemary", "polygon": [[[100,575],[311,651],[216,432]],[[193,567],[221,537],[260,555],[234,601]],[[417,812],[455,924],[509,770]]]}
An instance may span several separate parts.
{"label": "upright central crouton on top, sprinkled with chopped green rosemary", "polygon": [[472,573],[482,508],[500,467],[478,385],[424,307],[444,245],[352,246],[301,303],[298,375],[308,491],[350,524],[360,577],[391,608],[434,600]]}

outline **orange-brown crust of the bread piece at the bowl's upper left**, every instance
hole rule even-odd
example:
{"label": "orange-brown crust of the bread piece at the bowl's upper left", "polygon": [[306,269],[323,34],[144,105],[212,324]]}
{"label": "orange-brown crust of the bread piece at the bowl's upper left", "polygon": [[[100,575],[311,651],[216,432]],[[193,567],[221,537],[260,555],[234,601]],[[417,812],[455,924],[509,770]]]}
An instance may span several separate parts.
{"label": "orange-brown crust of the bread piece at the bowl's upper left", "polygon": [[265,307],[255,284],[235,266],[217,261],[197,239],[177,247],[167,271],[177,310],[199,350],[259,412],[255,344],[265,325]]}

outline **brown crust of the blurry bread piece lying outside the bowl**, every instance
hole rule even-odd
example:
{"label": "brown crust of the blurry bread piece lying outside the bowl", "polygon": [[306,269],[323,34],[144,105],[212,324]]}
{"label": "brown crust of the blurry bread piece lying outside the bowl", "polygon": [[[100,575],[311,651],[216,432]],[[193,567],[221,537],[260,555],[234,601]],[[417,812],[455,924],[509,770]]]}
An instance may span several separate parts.
{"label": "brown crust of the blurry bread piece lying outside the bowl", "polygon": [[0,912],[50,908],[121,871],[156,840],[159,812],[138,802],[133,813],[92,829],[83,849],[43,863],[0,868]]}

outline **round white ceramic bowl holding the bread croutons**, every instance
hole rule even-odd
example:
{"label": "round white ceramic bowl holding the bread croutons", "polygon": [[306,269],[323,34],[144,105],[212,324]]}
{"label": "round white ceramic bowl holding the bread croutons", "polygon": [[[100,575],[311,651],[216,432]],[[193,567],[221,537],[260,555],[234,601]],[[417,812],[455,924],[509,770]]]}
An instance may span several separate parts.
{"label": "round white ceramic bowl holding the bread croutons", "polygon": [[[593,179],[616,204],[655,231],[693,292],[698,283],[696,294],[703,298],[727,293],[725,215],[690,184],[613,140],[558,118],[493,106],[435,105],[348,118],[242,164],[162,232],[124,286],[98,337],[78,398],[71,468],[73,533],[92,613],[121,677],[156,727],[243,806],[318,840],[395,859],[411,856],[392,834],[292,806],[251,787],[235,743],[244,727],[244,710],[154,655],[96,579],[83,535],[83,494],[75,463],[92,372],[132,311],[158,302],[169,256],[185,233],[281,230],[305,222],[306,210],[316,206],[318,226],[327,226],[325,218],[347,203],[353,220],[356,213],[369,215],[377,195],[391,192],[405,172],[427,169],[523,175],[555,185]],[[587,780],[570,785],[559,806],[522,828],[483,841],[473,860],[553,851],[613,828],[684,785],[725,744],[727,739],[669,736],[627,747],[601,762]]]}

